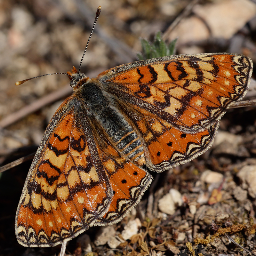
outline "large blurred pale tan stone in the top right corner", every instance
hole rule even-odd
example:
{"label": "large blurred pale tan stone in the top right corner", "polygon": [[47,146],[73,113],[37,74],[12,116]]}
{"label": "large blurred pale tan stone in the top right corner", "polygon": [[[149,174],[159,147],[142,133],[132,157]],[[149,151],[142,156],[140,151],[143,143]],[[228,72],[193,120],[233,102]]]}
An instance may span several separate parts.
{"label": "large blurred pale tan stone in the top right corner", "polygon": [[196,4],[193,12],[196,15],[182,19],[171,32],[169,40],[178,37],[177,44],[182,45],[207,40],[210,36],[229,39],[255,16],[256,5],[250,0],[210,1],[208,4]]}

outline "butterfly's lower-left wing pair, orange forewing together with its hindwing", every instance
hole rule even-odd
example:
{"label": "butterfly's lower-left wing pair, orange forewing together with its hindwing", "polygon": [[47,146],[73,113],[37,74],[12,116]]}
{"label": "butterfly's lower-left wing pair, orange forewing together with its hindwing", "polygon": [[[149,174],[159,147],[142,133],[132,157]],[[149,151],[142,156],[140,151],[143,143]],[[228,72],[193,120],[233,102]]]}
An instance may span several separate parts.
{"label": "butterfly's lower-left wing pair, orange forewing together with its hindwing", "polygon": [[151,175],[97,134],[79,104],[72,96],[62,103],[31,165],[15,221],[17,239],[24,246],[54,246],[95,221],[118,221],[151,182]]}

